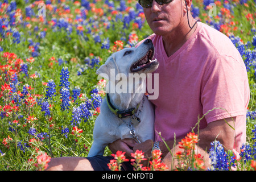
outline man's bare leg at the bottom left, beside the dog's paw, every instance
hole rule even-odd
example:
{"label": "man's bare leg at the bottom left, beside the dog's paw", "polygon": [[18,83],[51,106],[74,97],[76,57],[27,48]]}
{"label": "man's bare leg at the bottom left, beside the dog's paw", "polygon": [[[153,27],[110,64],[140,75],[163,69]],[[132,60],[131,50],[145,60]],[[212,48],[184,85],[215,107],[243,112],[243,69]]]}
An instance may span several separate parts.
{"label": "man's bare leg at the bottom left, beside the dog's paw", "polygon": [[52,158],[48,165],[47,171],[93,171],[92,165],[86,158]]}

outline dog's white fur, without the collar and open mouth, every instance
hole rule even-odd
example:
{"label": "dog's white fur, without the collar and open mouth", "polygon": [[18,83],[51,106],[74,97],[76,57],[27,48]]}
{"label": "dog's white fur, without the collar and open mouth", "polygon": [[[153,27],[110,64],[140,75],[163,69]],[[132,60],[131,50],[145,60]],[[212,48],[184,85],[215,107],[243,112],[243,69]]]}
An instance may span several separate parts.
{"label": "dog's white fur, without the collar and open mouth", "polygon": [[[152,42],[150,41],[150,43],[142,43],[138,48],[122,49],[110,56],[108,60],[106,60],[106,63],[97,70],[97,74],[104,73],[110,78],[110,69],[115,69],[115,74],[118,74],[119,72],[128,77],[129,73],[131,73],[131,65],[138,60],[141,60],[148,53],[148,50],[152,48],[154,49]],[[131,52],[128,55],[124,55],[126,51]],[[153,65],[150,68],[142,69],[137,73],[151,73],[155,71],[156,68],[158,68],[158,64]],[[114,85],[118,84],[119,81],[120,80],[109,80],[109,82],[114,82]],[[145,97],[142,111],[139,113],[141,122],[134,125],[134,130],[139,137],[139,140],[144,142],[147,139],[154,139],[154,108],[147,100],[147,97],[144,96],[144,93],[146,92],[146,80],[137,81],[133,84],[133,86],[135,86],[134,88],[142,89],[143,92],[131,93],[131,90],[129,90],[130,86],[128,86],[127,93],[109,93],[110,102],[119,110],[127,110],[136,107],[138,103],[142,103],[142,98]],[[130,122],[130,119],[131,117],[123,118],[123,120],[128,123]],[[106,99],[104,99],[101,103],[101,113],[98,115],[94,125],[94,141],[88,157],[103,155],[104,149],[109,143],[124,138],[133,138],[130,134],[130,129],[122,119],[119,119],[117,115],[112,113],[108,107]]]}

